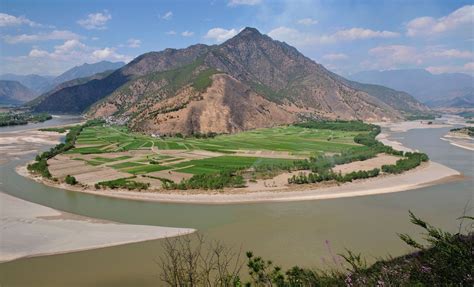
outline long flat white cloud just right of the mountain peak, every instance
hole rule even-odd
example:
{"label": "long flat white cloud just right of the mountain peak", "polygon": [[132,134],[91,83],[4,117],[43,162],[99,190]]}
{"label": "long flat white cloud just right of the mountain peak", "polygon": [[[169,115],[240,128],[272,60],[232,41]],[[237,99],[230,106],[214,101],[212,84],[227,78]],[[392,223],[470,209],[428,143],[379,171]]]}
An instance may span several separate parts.
{"label": "long flat white cloud just right of the mountain peak", "polygon": [[351,28],[339,30],[330,35],[318,36],[312,33],[305,33],[297,29],[281,26],[271,30],[268,35],[274,39],[285,41],[295,46],[309,46],[371,38],[394,38],[398,37],[400,34],[390,31],[374,31],[371,29]]}

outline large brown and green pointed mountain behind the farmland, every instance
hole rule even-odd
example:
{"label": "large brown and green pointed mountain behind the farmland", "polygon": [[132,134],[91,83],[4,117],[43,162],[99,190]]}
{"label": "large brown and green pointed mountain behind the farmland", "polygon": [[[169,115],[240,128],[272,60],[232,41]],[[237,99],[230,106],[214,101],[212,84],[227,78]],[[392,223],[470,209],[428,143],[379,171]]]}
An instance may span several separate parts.
{"label": "large brown and green pointed mountain behind the farmland", "polygon": [[[143,54],[103,79],[54,92],[33,108],[109,117],[137,131],[185,134],[237,132],[302,118],[403,118],[399,105],[409,97],[405,93],[357,84],[245,28],[220,45]],[[410,111],[428,110],[410,101]]]}

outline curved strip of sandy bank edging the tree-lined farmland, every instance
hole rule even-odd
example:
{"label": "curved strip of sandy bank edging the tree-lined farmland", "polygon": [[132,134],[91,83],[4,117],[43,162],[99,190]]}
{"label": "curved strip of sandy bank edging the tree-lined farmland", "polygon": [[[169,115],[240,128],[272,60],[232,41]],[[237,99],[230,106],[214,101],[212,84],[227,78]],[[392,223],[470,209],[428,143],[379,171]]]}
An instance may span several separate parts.
{"label": "curved strip of sandy bank edging the tree-lined farmland", "polygon": [[382,175],[376,178],[357,180],[345,184],[325,184],[292,186],[291,189],[273,191],[242,192],[238,189],[225,191],[128,191],[128,190],[95,190],[67,184],[57,184],[41,177],[32,176],[26,167],[18,167],[17,172],[25,177],[52,187],[59,187],[76,192],[100,196],[115,197],[139,201],[197,203],[197,204],[231,204],[252,202],[282,202],[321,200],[343,197],[367,196],[392,192],[407,191],[430,185],[462,179],[461,173],[435,162],[427,162],[400,175]]}

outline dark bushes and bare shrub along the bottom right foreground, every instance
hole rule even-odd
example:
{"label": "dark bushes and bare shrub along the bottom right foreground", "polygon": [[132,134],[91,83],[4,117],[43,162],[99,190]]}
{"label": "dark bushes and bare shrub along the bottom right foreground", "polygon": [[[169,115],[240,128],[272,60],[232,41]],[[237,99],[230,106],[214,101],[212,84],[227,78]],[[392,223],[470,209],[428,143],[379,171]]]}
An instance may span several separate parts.
{"label": "dark bushes and bare shrub along the bottom right foreground", "polygon": [[[469,222],[461,224],[456,234],[411,212],[410,219],[424,230],[428,245],[402,234],[400,238],[416,252],[368,266],[360,254],[347,251],[339,255],[345,261],[336,266],[339,268],[326,266],[324,270],[300,266],[284,270],[252,252],[246,253],[244,261],[241,250],[219,242],[205,244],[199,234],[169,238],[159,261],[160,278],[167,286],[473,286],[474,218],[460,218]],[[249,279],[243,279],[245,268]]]}

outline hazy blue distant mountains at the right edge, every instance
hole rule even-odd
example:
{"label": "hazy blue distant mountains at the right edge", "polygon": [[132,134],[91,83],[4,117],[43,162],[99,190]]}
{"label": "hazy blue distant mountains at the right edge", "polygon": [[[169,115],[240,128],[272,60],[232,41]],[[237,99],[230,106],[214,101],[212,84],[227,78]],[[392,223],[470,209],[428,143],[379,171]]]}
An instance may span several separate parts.
{"label": "hazy blue distant mountains at the right edge", "polygon": [[474,78],[467,74],[434,75],[426,70],[365,71],[351,75],[354,81],[405,91],[417,100],[443,102],[474,92]]}

